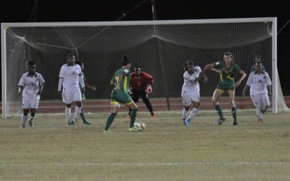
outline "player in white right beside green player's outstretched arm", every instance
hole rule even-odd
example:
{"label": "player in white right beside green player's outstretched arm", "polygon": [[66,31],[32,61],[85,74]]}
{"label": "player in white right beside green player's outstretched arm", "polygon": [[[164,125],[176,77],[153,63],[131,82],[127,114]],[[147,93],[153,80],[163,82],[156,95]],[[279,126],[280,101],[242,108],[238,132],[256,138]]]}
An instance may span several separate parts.
{"label": "player in white right beside green player's outstretched arm", "polygon": [[[200,67],[194,67],[194,63],[191,61],[187,62],[187,67],[184,67],[184,69],[187,71],[183,74],[184,84],[181,92],[182,104],[184,106],[182,120],[185,125],[189,126],[191,119],[196,116],[201,102],[198,81],[203,77],[204,72]],[[193,104],[193,109],[190,111],[189,116],[187,116],[191,104]]]}

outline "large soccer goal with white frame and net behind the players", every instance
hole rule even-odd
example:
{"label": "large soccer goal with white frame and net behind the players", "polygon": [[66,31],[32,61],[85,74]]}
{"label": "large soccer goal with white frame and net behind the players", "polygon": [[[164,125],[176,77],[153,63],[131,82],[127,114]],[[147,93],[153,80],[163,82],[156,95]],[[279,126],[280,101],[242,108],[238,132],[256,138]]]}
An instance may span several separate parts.
{"label": "large soccer goal with white frame and net behind the players", "polygon": [[[122,66],[124,54],[133,59],[133,67],[154,76],[150,95],[154,111],[182,110],[183,65],[194,61],[204,68],[221,61],[224,52],[232,52],[234,61],[247,75],[259,56],[273,81],[272,111],[288,111],[277,72],[277,18],[199,19],[138,22],[50,22],[2,23],[2,116],[20,115],[22,97],[17,83],[27,72],[27,61],[36,61],[45,86],[38,113],[62,113],[64,103],[57,94],[58,75],[68,54],[75,54],[85,65],[89,84],[85,112],[110,111],[110,79]],[[213,111],[211,97],[219,74],[208,71],[208,81],[200,81],[201,111]],[[235,74],[236,79],[240,74]],[[242,97],[246,79],[236,88],[239,110],[254,110],[249,95]],[[224,97],[219,102],[230,109]],[[138,106],[147,111],[142,100]],[[127,111],[122,107],[122,111]]]}

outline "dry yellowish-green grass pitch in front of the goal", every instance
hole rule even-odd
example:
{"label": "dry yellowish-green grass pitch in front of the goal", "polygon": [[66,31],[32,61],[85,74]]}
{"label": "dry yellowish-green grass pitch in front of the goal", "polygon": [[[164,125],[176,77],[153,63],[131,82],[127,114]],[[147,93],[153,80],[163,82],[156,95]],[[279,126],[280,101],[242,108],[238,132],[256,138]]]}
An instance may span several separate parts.
{"label": "dry yellowish-green grass pitch in front of the goal", "polygon": [[[0,180],[290,180],[290,113],[200,113],[185,127],[180,111],[140,112],[144,132],[129,132],[119,113],[104,133],[108,113],[92,125],[66,127],[64,115],[0,120]],[[79,120],[79,123],[81,121]]]}

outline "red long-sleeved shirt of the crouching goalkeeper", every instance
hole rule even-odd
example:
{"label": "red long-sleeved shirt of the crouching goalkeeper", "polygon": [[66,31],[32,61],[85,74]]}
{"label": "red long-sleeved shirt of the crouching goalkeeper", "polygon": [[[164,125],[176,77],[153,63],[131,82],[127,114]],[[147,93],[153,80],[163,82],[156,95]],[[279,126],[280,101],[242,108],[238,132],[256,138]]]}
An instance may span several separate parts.
{"label": "red long-sleeved shirt of the crouching goalkeeper", "polygon": [[148,84],[153,84],[153,77],[145,72],[140,73],[140,77],[136,77],[134,72],[131,74],[130,87],[134,90],[145,90]]}

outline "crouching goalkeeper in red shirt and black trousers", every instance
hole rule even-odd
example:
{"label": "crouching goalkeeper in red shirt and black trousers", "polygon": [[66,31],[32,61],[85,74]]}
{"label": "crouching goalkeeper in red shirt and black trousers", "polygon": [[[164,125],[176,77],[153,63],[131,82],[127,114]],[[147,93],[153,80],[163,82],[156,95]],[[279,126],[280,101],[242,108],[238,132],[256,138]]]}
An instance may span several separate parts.
{"label": "crouching goalkeeper in red shirt and black trousers", "polygon": [[[131,96],[134,102],[138,102],[139,97],[142,98],[143,102],[146,104],[148,111],[151,113],[151,117],[155,118],[155,114],[152,108],[152,104],[150,103],[148,95],[152,93],[153,77],[146,72],[141,72],[140,67],[134,68],[134,72],[131,74],[130,81],[130,89]],[[127,118],[130,118],[131,109],[129,109],[129,113]]]}

